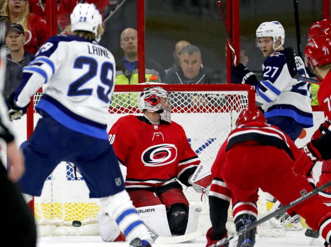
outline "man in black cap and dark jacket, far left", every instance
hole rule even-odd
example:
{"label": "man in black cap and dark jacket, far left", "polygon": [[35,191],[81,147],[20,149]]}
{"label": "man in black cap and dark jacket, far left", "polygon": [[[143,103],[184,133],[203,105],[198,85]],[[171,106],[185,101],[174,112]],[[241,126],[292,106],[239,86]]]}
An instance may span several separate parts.
{"label": "man in black cap and dark jacket, far left", "polygon": [[12,23],[6,31],[6,44],[10,54],[6,56],[6,77],[2,95],[7,98],[20,84],[22,67],[33,60],[34,55],[24,51],[25,33],[23,26]]}

